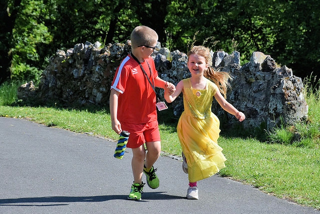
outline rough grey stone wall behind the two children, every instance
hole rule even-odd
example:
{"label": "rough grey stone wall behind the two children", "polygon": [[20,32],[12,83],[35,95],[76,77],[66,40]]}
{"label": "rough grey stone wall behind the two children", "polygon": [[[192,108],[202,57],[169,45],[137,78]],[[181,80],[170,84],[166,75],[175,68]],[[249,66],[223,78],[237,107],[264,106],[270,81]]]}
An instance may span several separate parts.
{"label": "rough grey stone wall behind the two children", "polygon": [[[131,51],[130,40],[109,44],[103,48],[99,42],[76,44],[66,52],[58,50],[43,71],[39,87],[32,82],[21,85],[18,97],[26,102],[57,103],[63,106],[109,105],[110,85],[117,66]],[[170,52],[158,43],[152,57],[159,76],[177,84],[187,78],[187,55],[179,50]],[[253,52],[250,62],[240,65],[240,53],[211,52],[213,65],[230,72],[232,88],[227,100],[243,111],[245,128],[274,127],[293,124],[306,118],[308,106],[303,97],[303,83],[286,66],[277,67],[269,55]],[[163,98],[163,90],[157,89]],[[182,96],[172,104],[178,117],[183,111]],[[226,124],[238,122],[233,115],[222,110],[216,101],[212,111]]]}

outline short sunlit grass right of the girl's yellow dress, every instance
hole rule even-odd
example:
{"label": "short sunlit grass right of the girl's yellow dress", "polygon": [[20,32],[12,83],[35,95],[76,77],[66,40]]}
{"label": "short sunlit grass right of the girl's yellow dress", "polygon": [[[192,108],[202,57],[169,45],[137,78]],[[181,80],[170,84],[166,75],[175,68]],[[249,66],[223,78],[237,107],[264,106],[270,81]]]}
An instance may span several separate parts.
{"label": "short sunlit grass right of the girl's yellow dress", "polygon": [[221,176],[320,208],[320,151],[254,139],[220,138],[227,161]]}

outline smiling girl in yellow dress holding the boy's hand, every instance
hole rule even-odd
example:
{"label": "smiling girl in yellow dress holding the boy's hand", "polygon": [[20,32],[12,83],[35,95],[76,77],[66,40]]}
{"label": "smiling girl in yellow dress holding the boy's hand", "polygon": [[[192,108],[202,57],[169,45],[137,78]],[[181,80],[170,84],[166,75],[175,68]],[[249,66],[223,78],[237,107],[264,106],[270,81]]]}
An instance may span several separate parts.
{"label": "smiling girl in yellow dress holding the boy's hand", "polygon": [[183,159],[187,163],[187,168],[183,164],[189,177],[187,198],[198,199],[197,181],[225,167],[226,158],[217,144],[220,121],[211,112],[213,96],[225,111],[235,115],[239,121],[244,120],[245,115],[226,101],[227,80],[231,77],[227,72],[213,69],[209,48],[193,46],[187,55],[191,77],[181,80],[172,95],[165,88],[165,99],[172,102],[183,92],[184,112],[178,121],[177,132]]}

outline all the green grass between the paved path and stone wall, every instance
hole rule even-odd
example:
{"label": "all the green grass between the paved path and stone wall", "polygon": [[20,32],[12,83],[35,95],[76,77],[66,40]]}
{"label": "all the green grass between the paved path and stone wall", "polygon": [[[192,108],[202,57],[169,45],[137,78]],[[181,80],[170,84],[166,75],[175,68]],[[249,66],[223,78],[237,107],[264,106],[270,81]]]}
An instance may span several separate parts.
{"label": "all the green grass between the paved path and stone wall", "polygon": [[[99,135],[106,139],[118,138],[111,129],[110,113],[106,109],[19,106],[13,92],[16,88],[17,85],[8,83],[0,86],[0,116],[26,118],[48,126]],[[224,149],[227,161],[226,167],[219,174],[252,184],[277,197],[320,209],[318,99],[318,93],[307,94],[307,122],[293,127],[279,127],[269,132],[273,138],[269,138],[268,142],[252,137],[221,136],[218,143]],[[158,114],[162,150],[164,153],[180,156],[176,119],[172,115],[168,116],[168,112],[170,110],[160,111]],[[293,132],[299,133],[299,140],[292,138]]]}

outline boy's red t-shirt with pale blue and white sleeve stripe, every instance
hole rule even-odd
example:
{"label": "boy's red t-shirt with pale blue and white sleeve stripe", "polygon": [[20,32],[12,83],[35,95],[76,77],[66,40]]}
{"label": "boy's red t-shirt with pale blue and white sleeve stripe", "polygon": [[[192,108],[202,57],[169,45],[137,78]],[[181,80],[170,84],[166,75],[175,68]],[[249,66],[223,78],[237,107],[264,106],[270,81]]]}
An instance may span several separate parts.
{"label": "boy's red t-shirt with pale blue and white sleeve stripe", "polygon": [[[147,62],[150,65],[152,75]],[[150,81],[158,76],[152,57],[141,62]],[[118,120],[128,123],[147,123],[157,120],[156,94],[138,62],[128,55],[116,70],[112,89],[120,92],[118,99]]]}

